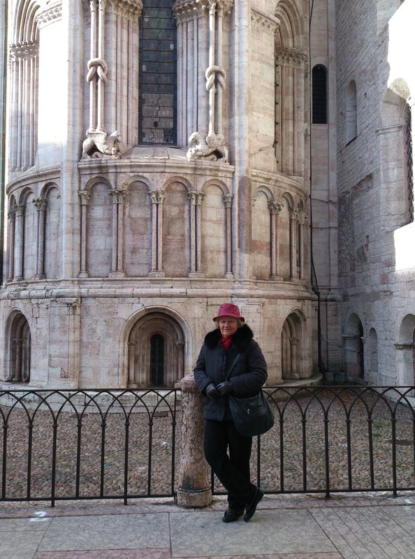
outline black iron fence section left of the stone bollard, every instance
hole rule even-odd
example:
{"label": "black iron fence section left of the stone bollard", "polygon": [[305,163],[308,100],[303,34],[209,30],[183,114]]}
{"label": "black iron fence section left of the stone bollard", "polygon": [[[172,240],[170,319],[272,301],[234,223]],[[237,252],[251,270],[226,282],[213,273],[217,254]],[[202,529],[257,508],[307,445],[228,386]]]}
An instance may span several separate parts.
{"label": "black iron fence section left of the stone bollard", "polygon": [[180,391],[0,391],[0,500],[173,496]]}

